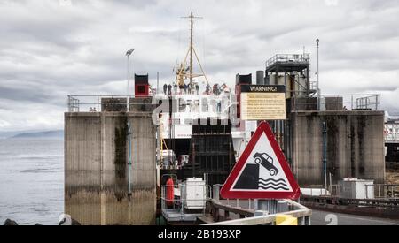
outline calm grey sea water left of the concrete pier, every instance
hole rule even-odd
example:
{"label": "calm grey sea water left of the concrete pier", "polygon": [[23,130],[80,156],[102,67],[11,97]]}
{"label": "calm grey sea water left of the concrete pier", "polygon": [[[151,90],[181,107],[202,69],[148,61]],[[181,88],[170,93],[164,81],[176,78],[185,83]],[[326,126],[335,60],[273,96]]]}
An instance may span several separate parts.
{"label": "calm grey sea water left of the concrete pier", "polygon": [[0,140],[0,225],[58,224],[64,211],[64,140]]}

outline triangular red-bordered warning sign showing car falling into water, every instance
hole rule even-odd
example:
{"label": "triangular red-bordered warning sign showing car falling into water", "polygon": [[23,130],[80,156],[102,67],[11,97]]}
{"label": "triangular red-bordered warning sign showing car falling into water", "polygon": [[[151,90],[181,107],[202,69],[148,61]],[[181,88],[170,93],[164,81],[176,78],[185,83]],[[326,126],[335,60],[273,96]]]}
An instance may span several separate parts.
{"label": "triangular red-bordered warning sign showing car falling into water", "polygon": [[301,190],[286,157],[262,122],[221,189],[226,199],[297,199]]}

